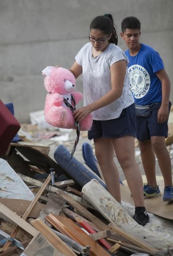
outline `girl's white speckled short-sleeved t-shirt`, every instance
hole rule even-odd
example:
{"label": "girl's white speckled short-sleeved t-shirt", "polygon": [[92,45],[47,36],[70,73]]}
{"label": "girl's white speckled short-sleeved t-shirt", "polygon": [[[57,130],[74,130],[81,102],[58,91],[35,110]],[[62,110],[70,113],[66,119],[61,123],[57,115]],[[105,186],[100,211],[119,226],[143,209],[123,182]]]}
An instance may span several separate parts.
{"label": "girl's white speckled short-sleeved t-shirt", "polygon": [[[77,53],[76,62],[82,67],[83,87],[84,87],[84,106],[89,105],[100,99],[111,90],[110,67],[116,61],[128,58],[117,45],[109,44],[107,48],[97,57],[92,56],[91,43],[85,44]],[[130,91],[130,80],[128,69],[124,79],[123,93],[109,105],[93,111],[94,120],[111,120],[118,118],[124,108],[134,103],[134,98]]]}

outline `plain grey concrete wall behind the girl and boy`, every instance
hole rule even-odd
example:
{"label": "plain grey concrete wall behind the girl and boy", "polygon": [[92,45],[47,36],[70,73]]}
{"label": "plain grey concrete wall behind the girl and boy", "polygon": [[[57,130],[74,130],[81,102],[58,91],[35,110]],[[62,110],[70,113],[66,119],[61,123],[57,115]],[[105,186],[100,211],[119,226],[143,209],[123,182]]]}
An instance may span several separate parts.
{"label": "plain grey concrete wall behind the girl and boy", "polygon": [[[44,108],[46,91],[41,71],[48,65],[69,68],[88,42],[89,25],[111,13],[118,27],[126,16],[142,23],[141,41],[164,60],[173,83],[172,0],[3,0],[0,1],[0,99],[13,102],[20,122]],[[126,45],[119,36],[118,45]],[[82,77],[77,90],[82,91]],[[173,100],[173,91],[171,93]]]}

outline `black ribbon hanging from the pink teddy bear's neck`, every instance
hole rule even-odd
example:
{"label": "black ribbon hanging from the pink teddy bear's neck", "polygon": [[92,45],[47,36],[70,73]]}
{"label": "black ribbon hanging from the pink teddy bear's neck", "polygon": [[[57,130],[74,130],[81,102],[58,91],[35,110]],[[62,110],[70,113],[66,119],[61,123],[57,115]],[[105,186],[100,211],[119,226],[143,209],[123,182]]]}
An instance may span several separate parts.
{"label": "black ribbon hanging from the pink teddy bear's neck", "polygon": [[[72,112],[74,112],[76,110],[76,102],[75,102],[72,94],[71,94],[71,98],[72,98],[74,106],[72,106],[65,98],[64,98],[64,103]],[[74,152],[76,150],[76,147],[77,147],[77,144],[78,144],[78,141],[79,141],[80,130],[81,130],[80,123],[78,123],[76,120],[74,120],[74,125],[76,126],[76,134],[77,134],[77,136],[76,136],[76,140],[74,142],[74,146],[73,146],[73,150],[72,150],[71,158],[70,159],[72,159],[73,154],[74,154]]]}

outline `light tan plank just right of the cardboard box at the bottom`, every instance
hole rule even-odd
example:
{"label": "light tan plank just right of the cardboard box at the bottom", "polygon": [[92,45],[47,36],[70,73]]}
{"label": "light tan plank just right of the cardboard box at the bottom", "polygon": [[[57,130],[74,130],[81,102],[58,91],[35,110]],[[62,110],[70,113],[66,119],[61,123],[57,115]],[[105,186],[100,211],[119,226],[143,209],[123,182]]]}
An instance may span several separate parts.
{"label": "light tan plank just right of the cardboard box at the bottom", "polygon": [[76,256],[69,246],[67,246],[41,219],[34,219],[31,221],[31,224],[60,252],[67,256]]}

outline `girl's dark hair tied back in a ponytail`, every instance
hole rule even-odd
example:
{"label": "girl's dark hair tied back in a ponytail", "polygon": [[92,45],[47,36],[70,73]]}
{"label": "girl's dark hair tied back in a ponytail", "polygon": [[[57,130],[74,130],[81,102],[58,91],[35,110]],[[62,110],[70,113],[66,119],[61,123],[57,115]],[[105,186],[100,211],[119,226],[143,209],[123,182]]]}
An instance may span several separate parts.
{"label": "girl's dark hair tied back in a ponytail", "polygon": [[118,44],[118,36],[116,34],[114,20],[111,14],[97,16],[91,22],[90,30],[91,29],[99,29],[103,31],[105,35],[110,35],[112,33],[112,36],[109,39],[109,42],[115,45]]}

